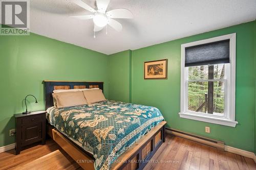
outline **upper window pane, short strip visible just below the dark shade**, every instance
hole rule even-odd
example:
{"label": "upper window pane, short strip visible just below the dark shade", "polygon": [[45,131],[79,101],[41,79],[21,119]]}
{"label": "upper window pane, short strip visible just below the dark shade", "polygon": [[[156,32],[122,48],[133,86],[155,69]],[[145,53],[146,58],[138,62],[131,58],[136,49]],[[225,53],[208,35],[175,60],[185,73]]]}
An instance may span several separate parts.
{"label": "upper window pane, short strip visible just below the dark shade", "polygon": [[188,67],[188,80],[212,79],[212,74],[213,79],[224,79],[225,64],[215,64],[214,70],[209,69],[209,65]]}

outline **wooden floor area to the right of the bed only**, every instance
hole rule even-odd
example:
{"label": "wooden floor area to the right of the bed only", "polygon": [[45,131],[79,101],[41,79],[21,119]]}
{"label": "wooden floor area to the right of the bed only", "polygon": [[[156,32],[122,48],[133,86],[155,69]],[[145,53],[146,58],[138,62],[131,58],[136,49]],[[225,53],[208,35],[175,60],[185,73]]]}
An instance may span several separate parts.
{"label": "wooden floor area to the right of the bed only", "polygon": [[147,163],[144,169],[256,169],[250,158],[170,135],[166,135],[165,142],[152,160],[173,162]]}

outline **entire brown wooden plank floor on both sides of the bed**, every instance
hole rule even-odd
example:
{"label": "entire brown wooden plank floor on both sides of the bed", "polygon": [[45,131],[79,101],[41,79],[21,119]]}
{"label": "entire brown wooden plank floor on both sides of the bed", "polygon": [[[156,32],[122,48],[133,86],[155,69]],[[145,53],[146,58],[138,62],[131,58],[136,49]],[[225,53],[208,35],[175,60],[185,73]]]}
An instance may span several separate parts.
{"label": "entire brown wooden plank floor on both sides of the bed", "polygon": [[[144,169],[256,169],[252,159],[219,151],[179,137],[166,135],[166,141]],[[0,153],[0,169],[81,169],[52,139],[45,145],[14,155]]]}

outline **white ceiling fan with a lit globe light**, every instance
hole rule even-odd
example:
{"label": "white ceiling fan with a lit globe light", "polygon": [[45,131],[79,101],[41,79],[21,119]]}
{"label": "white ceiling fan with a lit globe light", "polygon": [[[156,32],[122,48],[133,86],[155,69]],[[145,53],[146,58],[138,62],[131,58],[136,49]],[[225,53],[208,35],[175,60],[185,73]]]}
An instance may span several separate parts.
{"label": "white ceiling fan with a lit globe light", "polygon": [[73,0],[72,2],[93,13],[92,15],[74,15],[72,17],[79,19],[93,19],[94,38],[95,32],[101,31],[104,27],[106,27],[107,34],[108,25],[118,32],[122,31],[121,23],[114,20],[113,18],[133,18],[132,12],[124,8],[114,9],[106,12],[106,8],[108,8],[110,0],[96,0],[97,9],[93,9],[81,0]]}

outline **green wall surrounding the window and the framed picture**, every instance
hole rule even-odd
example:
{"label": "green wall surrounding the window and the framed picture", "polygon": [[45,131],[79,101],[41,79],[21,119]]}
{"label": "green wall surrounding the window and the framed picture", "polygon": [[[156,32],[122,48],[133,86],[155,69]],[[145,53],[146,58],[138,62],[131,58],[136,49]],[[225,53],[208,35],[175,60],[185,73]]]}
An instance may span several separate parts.
{"label": "green wall surrounding the window and the framed picture", "polygon": [[[167,127],[219,139],[231,147],[253,152],[256,145],[254,144],[256,130],[254,129],[255,25],[256,21],[247,22],[132,51],[132,89],[130,91],[132,103],[159,108],[167,121]],[[237,33],[236,120],[239,124],[236,128],[232,128],[180,118],[178,113],[180,111],[181,44],[231,33]],[[144,80],[144,61],[159,59],[168,59],[168,79]],[[121,80],[118,79],[118,81]],[[205,126],[210,127],[209,134],[205,133]]]}

